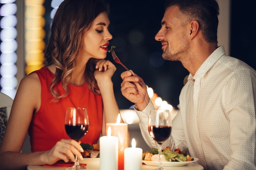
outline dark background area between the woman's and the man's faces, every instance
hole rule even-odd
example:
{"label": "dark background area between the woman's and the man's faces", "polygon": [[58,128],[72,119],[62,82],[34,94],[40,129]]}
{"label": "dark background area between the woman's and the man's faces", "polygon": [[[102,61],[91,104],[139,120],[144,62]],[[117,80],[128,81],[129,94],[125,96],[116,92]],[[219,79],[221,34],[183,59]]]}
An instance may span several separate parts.
{"label": "dark background area between the woman's and the man's faces", "polygon": [[[177,106],[183,79],[189,72],[180,62],[162,59],[162,45],[155,40],[164,15],[164,0],[136,1],[110,0],[110,33],[115,52],[123,64],[144,79],[159,97]],[[108,54],[112,61],[111,55]],[[124,68],[117,65],[112,80],[120,109],[129,108],[130,103],[121,95],[120,74]]]}

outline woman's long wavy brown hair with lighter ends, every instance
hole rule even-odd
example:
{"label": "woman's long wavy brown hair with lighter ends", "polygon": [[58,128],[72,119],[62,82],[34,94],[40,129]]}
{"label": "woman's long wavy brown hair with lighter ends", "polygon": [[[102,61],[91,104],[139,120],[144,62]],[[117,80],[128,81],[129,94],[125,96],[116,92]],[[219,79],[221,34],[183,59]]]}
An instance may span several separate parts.
{"label": "woman's long wavy brown hair with lighter ends", "polygon": [[[109,5],[101,0],[64,0],[52,21],[51,35],[45,50],[45,66],[53,64],[56,73],[49,91],[56,101],[69,93],[68,80],[77,66],[77,55],[81,39],[88,31],[94,19],[102,12],[109,14]],[[91,58],[86,64],[85,80],[90,91],[100,94],[94,78],[96,59]],[[65,94],[60,95],[57,84],[62,84]]]}

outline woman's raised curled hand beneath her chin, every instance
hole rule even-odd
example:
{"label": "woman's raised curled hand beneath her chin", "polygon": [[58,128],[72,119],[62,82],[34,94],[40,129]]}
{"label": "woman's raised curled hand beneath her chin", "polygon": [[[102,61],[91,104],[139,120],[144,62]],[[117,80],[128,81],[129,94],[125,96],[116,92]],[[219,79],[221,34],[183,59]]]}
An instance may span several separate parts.
{"label": "woman's raised curled hand beneath her chin", "polygon": [[116,66],[109,60],[99,60],[95,68],[94,77],[98,85],[100,85],[101,82],[111,81],[113,74],[117,70]]}

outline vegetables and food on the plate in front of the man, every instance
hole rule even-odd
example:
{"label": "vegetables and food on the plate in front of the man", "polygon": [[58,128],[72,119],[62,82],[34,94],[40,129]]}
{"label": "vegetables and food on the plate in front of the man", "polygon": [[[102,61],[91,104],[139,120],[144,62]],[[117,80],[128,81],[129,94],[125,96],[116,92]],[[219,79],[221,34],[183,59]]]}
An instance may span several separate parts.
{"label": "vegetables and food on the plate in front of the man", "polygon": [[[171,151],[169,147],[162,150],[162,161],[170,162],[183,162],[183,161],[193,161],[194,159],[189,156],[186,152],[182,152],[180,148]],[[142,154],[142,160],[144,161],[158,161],[158,149],[152,148],[150,152],[144,152]]]}

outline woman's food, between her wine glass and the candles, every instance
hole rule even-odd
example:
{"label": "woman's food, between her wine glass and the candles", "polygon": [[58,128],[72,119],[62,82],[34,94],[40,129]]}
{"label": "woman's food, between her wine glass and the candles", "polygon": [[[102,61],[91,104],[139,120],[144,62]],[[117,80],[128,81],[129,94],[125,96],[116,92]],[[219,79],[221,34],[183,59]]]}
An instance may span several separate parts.
{"label": "woman's food, between her wine glass and the candles", "polygon": [[84,150],[82,152],[82,156],[84,158],[99,158],[99,145],[98,144],[80,144]]}

